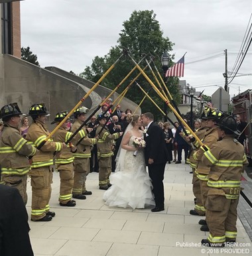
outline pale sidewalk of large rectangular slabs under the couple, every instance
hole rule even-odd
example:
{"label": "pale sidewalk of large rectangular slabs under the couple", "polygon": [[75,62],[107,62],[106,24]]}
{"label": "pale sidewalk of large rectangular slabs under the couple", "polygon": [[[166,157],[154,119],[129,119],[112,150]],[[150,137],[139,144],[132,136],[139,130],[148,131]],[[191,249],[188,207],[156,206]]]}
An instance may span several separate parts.
{"label": "pale sidewalk of large rectangular slabs under the couple", "polygon": [[[166,164],[165,210],[158,213],[152,213],[150,209],[133,211],[105,206],[103,191],[97,186],[97,172],[90,173],[87,180],[88,190],[92,190],[93,195],[86,200],[76,200],[74,208],[63,208],[58,204],[59,176],[54,172],[50,210],[56,212],[56,217],[51,222],[29,220],[34,255],[252,255],[251,240],[240,220],[237,220],[239,246],[200,246],[208,232],[200,231],[200,217],[189,214],[194,208],[192,174],[189,172],[187,164]],[[31,218],[30,184],[28,190],[27,211]]]}

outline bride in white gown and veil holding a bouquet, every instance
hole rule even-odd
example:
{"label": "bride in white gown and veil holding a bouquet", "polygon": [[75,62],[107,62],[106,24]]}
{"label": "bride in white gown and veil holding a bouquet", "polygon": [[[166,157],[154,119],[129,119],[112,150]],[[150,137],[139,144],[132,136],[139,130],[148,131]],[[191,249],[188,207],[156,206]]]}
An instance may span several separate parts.
{"label": "bride in white gown and veil holding a bouquet", "polygon": [[121,208],[145,208],[145,205],[155,206],[152,185],[146,171],[143,148],[133,145],[135,138],[143,139],[143,131],[139,115],[131,117],[125,135],[121,141],[121,148],[117,153],[115,174],[110,176],[113,186],[105,191],[103,200],[108,206]]}

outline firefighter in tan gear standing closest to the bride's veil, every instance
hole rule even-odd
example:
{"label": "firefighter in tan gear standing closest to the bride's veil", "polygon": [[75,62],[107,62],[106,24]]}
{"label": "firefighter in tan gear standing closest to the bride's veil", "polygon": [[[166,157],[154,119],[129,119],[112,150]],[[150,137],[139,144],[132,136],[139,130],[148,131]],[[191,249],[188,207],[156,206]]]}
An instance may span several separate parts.
{"label": "firefighter in tan gear standing closest to the bride's veil", "polygon": [[[98,115],[99,126],[96,129],[98,137],[97,149],[99,160],[99,189],[107,190],[111,186],[109,176],[111,174],[111,157],[113,156],[113,141],[118,139],[123,132],[110,134],[107,128],[104,127],[107,118],[103,113]],[[104,127],[104,128],[103,128]],[[101,131],[102,129],[102,131]]]}

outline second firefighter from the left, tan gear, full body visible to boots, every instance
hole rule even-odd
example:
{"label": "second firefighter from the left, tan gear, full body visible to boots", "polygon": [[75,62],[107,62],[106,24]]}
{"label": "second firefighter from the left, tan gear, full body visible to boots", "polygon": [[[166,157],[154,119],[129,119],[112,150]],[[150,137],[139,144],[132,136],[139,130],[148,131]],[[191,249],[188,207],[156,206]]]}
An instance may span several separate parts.
{"label": "second firefighter from the left, tan gear, full body visible to boots", "polygon": [[[44,103],[34,104],[29,109],[32,124],[27,133],[27,141],[31,141],[36,147],[44,143],[50,134],[45,123],[46,117],[50,115]],[[50,212],[49,200],[52,192],[52,165],[54,151],[60,151],[66,147],[65,143],[53,142],[48,139],[32,158],[31,164],[31,186],[32,186],[32,210],[31,220],[33,222],[49,222],[55,216]]]}

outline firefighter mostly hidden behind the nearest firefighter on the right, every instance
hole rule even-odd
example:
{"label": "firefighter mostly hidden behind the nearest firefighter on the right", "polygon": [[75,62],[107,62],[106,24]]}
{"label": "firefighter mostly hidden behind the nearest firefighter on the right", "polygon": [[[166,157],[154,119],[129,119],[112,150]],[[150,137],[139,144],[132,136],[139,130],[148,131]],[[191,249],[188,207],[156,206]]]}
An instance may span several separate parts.
{"label": "firefighter mostly hidden behind the nearest firefighter on the right", "polygon": [[[202,142],[204,145],[211,147],[216,141],[218,141],[218,127],[216,127],[216,123],[220,118],[222,117],[223,112],[219,109],[206,109],[206,127],[208,127],[208,131],[206,131],[204,139]],[[193,155],[194,159],[198,161],[197,167],[196,167],[196,174],[197,178],[200,180],[200,192],[202,197],[202,206],[198,204],[198,206],[194,210],[190,210],[191,215],[198,215],[198,216],[205,216],[206,215],[206,198],[208,195],[208,173],[210,172],[210,167],[206,166],[204,163],[202,163],[202,155],[204,154],[204,150],[202,147],[198,149]],[[200,230],[202,231],[209,231],[208,225],[205,220],[200,220],[199,222],[202,227],[200,227]]]}

